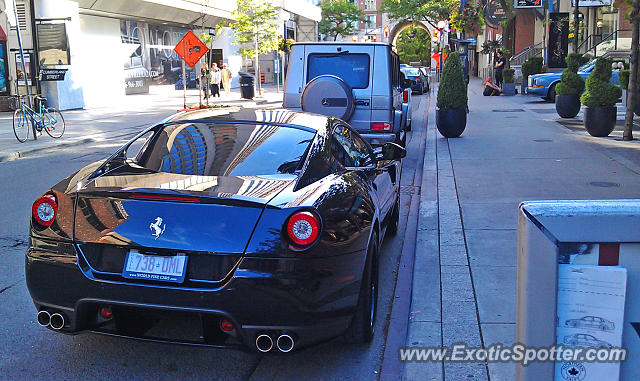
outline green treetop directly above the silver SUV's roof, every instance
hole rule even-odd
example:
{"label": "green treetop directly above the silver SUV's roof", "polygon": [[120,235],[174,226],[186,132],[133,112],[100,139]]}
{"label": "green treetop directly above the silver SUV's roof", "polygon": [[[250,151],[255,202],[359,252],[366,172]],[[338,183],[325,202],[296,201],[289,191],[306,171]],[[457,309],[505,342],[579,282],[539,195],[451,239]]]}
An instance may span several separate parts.
{"label": "green treetop directly above the silver SUV's roof", "polygon": [[349,0],[324,0],[320,4],[322,20],[318,23],[321,34],[333,37],[353,34],[355,23],[364,21],[364,12]]}

